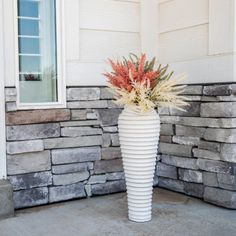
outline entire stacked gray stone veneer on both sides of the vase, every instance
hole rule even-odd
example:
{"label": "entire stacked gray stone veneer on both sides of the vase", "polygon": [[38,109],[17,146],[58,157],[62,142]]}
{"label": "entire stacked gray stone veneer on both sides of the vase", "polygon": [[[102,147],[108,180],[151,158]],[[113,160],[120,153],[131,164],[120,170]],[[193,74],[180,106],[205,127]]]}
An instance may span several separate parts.
{"label": "entire stacked gray stone veneer on both sides of the vase", "polygon": [[[159,186],[236,208],[235,85],[188,86],[187,112],[160,109]],[[6,88],[15,208],[125,191],[117,118],[103,87],[67,88],[67,108],[17,111]],[[235,118],[234,118],[235,117]],[[235,143],[235,144],[234,144]]]}

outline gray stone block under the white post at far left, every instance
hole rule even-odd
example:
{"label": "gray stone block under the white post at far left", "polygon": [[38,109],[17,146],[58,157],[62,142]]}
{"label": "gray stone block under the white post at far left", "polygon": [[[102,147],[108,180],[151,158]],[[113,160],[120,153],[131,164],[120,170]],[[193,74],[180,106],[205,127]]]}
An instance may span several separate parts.
{"label": "gray stone block under the white post at far left", "polygon": [[0,219],[14,215],[13,190],[8,180],[0,180]]}

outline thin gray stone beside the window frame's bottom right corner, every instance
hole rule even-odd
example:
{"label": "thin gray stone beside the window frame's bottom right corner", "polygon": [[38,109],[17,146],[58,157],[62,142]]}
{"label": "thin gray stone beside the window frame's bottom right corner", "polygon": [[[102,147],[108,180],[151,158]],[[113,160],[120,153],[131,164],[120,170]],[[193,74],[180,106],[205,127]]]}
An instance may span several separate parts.
{"label": "thin gray stone beside the window frame's bottom right corner", "polygon": [[67,107],[70,109],[108,108],[108,103],[106,100],[68,102]]}

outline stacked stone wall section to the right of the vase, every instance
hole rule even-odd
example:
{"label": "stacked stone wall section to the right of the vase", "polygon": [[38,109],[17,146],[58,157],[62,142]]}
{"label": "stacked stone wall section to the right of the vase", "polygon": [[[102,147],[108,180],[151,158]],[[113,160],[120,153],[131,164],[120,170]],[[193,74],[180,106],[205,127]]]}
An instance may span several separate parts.
{"label": "stacked stone wall section to the right of the vase", "polygon": [[159,186],[236,209],[236,85],[188,86],[187,112],[161,109]]}

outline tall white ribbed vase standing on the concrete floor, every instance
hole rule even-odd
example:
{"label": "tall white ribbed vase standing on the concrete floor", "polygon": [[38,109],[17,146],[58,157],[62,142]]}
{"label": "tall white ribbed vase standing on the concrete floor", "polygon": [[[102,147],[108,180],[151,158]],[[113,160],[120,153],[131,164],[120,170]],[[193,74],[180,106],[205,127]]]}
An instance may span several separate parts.
{"label": "tall white ribbed vase standing on the concrete floor", "polygon": [[146,113],[125,108],[119,116],[119,139],[128,198],[129,219],[152,218],[152,190],[160,134],[155,110]]}

